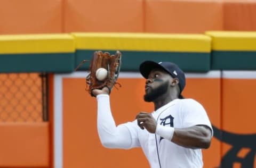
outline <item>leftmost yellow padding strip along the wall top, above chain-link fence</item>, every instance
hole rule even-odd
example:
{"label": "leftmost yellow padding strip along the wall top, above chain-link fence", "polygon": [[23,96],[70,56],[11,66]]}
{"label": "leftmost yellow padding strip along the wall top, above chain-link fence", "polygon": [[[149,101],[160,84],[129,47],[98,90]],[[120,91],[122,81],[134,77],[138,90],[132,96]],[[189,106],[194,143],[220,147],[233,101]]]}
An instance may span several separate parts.
{"label": "leftmost yellow padding strip along the wall top, above chain-link fence", "polygon": [[69,53],[74,51],[74,37],[69,34],[0,36],[0,54]]}

